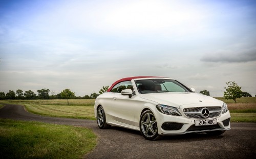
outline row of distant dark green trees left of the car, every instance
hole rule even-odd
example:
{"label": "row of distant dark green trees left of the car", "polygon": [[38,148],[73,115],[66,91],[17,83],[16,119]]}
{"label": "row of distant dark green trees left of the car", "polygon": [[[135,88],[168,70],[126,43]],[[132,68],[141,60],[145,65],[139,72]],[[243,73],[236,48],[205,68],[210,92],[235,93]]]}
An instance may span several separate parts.
{"label": "row of distant dark green trees left of the car", "polygon": [[37,90],[37,93],[33,91],[23,91],[21,89],[16,90],[16,92],[9,90],[9,92],[4,93],[0,92],[0,100],[4,99],[95,99],[100,94],[104,93],[106,90],[109,89],[109,86],[103,86],[99,93],[92,93],[90,96],[85,95],[75,96],[75,93],[72,92],[70,89],[64,89],[60,93],[55,94],[54,91],[50,91],[49,89],[40,89]]}

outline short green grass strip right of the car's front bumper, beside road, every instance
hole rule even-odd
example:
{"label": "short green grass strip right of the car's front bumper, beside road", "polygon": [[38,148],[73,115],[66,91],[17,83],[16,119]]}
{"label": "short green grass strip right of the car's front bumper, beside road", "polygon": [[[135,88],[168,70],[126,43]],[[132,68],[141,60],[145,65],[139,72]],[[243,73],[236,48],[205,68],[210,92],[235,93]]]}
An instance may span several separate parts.
{"label": "short green grass strip right of the car's front bumper, beside road", "polygon": [[230,113],[231,122],[256,122],[256,113]]}

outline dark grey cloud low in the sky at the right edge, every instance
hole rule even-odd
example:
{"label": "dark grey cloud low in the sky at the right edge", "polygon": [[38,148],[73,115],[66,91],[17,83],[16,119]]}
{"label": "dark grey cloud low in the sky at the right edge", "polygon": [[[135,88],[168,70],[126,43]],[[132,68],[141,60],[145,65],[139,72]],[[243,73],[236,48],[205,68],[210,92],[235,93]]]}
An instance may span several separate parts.
{"label": "dark grey cloud low in the sky at the right edge", "polygon": [[222,63],[256,61],[256,47],[241,50],[220,50],[216,54],[205,55],[201,61]]}

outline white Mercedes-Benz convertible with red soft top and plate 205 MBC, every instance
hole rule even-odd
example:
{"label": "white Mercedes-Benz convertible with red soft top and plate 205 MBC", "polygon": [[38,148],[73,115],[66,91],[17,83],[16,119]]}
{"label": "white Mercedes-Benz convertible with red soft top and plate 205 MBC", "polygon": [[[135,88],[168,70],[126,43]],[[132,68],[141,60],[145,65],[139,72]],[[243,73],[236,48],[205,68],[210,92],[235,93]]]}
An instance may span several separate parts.
{"label": "white Mercedes-Benz convertible with red soft top and plate 205 MBC", "polygon": [[226,103],[165,77],[122,78],[96,98],[94,112],[99,128],[140,130],[147,140],[187,133],[221,135],[230,129]]}

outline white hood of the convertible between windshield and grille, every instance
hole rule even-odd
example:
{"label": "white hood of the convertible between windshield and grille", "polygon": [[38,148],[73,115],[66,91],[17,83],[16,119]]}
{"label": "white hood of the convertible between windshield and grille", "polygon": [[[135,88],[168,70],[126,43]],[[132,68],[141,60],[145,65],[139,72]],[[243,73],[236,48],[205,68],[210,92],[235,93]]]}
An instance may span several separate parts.
{"label": "white hood of the convertible between windshield and grille", "polygon": [[143,99],[151,100],[159,104],[169,105],[172,107],[180,108],[182,105],[187,104],[209,104],[209,105],[221,105],[221,101],[206,95],[198,93],[176,93],[176,92],[165,92],[165,93],[149,93],[140,94]]}

